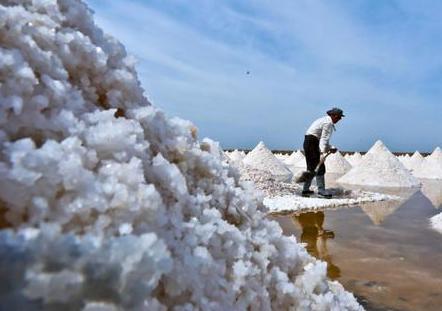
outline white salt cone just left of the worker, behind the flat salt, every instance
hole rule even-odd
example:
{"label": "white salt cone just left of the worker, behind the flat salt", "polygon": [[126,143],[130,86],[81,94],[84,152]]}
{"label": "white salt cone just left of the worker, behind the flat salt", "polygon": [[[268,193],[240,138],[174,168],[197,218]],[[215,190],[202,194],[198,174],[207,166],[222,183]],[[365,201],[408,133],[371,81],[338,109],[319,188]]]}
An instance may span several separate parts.
{"label": "white salt cone just left of the worker, behind the flat salt", "polygon": [[254,169],[269,172],[279,181],[288,182],[292,178],[290,170],[273,155],[262,141],[245,156],[243,163]]}

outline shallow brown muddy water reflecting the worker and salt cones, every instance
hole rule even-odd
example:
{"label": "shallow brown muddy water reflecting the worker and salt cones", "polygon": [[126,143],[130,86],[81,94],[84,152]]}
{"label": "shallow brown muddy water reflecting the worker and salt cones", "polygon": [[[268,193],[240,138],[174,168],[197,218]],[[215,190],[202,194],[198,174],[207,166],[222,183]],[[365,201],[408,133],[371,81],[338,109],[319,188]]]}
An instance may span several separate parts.
{"label": "shallow brown muddy water reflecting the worker and salt cones", "polygon": [[421,191],[400,203],[371,203],[273,217],[285,234],[328,263],[328,275],[367,310],[442,310],[441,212]]}

